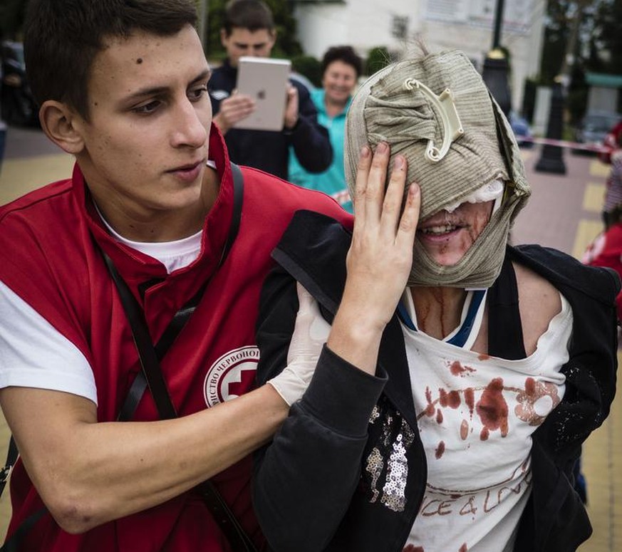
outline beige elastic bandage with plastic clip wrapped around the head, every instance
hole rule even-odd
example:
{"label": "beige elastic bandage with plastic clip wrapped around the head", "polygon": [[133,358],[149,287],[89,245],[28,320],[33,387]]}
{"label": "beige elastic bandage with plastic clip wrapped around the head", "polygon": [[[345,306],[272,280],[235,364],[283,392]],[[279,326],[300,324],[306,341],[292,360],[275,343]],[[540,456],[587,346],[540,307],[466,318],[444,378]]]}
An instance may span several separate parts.
{"label": "beige elastic bandage with plastic clip wrapped around the head", "polygon": [[464,53],[393,63],[361,85],[346,120],[345,170],[352,197],[361,148],[379,142],[390,145],[392,160],[397,154],[408,160],[407,182],[421,188],[420,220],[453,210],[474,194],[481,197],[495,180],[504,182],[500,207],[457,264],[437,264],[415,240],[408,281],[410,286],[491,286],[501,271],[510,226],[530,191],[509,123]]}

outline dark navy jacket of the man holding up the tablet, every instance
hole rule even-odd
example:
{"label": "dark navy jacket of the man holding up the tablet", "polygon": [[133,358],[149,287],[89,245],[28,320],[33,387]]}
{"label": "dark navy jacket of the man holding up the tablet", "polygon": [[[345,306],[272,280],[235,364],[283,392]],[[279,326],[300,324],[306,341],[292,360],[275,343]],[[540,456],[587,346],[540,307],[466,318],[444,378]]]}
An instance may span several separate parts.
{"label": "dark navy jacket of the man holding up the tablet", "polygon": [[[220,102],[232,93],[236,82],[237,68],[228,60],[214,69],[207,84],[214,115],[220,110]],[[293,146],[300,164],[309,172],[322,172],[331,165],[333,150],[328,130],[318,123],[318,113],[309,90],[296,80],[290,82],[298,89],[299,119],[296,126],[280,132],[232,128],[224,135],[224,141],[234,163],[287,179],[289,147]]]}

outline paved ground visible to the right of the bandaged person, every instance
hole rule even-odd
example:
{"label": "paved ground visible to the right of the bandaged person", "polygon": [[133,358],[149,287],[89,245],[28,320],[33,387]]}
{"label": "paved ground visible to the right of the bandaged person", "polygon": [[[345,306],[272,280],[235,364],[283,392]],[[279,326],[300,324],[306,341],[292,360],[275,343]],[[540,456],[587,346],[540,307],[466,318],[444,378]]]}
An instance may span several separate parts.
{"label": "paved ground visible to the right of the bandaged person", "polygon": [[[601,207],[608,166],[594,157],[566,152],[566,176],[534,172],[539,150],[524,152],[532,198],[512,231],[515,244],[539,243],[580,258],[601,231]],[[618,352],[618,363],[622,355]],[[583,451],[588,487],[588,513],[594,534],[579,552],[622,551],[622,398],[618,392],[611,414],[591,434]]]}

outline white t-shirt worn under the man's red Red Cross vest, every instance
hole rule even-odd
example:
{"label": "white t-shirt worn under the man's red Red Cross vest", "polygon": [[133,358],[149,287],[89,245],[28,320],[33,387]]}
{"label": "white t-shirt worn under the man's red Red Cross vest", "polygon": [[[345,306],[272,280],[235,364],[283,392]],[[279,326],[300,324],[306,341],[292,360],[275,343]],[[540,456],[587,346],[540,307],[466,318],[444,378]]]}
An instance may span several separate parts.
{"label": "white t-shirt worn under the man's red Red Cross vest", "polygon": [[[104,223],[115,239],[157,259],[169,274],[188,266],[201,251],[202,231],[145,243],[125,239]],[[97,404],[93,371],[81,350],[0,281],[0,388],[10,386],[64,391]]]}

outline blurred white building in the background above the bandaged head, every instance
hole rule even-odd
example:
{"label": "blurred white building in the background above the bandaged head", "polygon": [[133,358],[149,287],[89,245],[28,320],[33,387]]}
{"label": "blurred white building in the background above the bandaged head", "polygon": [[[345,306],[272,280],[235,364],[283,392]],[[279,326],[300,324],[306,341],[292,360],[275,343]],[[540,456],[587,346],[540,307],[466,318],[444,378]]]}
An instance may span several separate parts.
{"label": "blurred white building in the background above the bandaged head", "polygon": [[[430,51],[457,48],[482,71],[492,48],[497,0],[294,0],[298,38],[306,53],[350,44],[366,56],[385,46],[408,56],[416,38]],[[522,107],[524,81],[537,75],[544,38],[546,0],[504,3],[500,45],[508,49],[512,107]]]}

